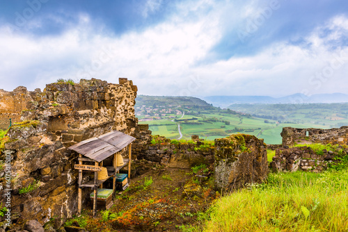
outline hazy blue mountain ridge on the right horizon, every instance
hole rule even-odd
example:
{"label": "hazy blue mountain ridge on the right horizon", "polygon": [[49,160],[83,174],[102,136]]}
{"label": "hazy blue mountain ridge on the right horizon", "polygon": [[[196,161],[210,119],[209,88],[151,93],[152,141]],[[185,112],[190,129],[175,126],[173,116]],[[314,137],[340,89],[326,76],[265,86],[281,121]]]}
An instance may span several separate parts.
{"label": "hazy blue mountain ridge on the right horizon", "polygon": [[304,94],[292,94],[286,97],[269,97],[269,96],[208,96],[203,97],[207,103],[213,106],[226,108],[232,104],[240,103],[341,103],[348,102],[348,94],[313,94],[306,96]]}

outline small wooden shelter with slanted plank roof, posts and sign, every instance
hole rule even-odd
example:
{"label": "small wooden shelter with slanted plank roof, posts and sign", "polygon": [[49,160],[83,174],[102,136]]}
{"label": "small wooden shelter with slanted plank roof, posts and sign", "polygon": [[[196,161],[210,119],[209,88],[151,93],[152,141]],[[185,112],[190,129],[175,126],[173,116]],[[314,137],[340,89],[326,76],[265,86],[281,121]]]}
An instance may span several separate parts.
{"label": "small wooden shelter with slanted plank roof, posts and sign", "polygon": [[[132,142],[135,140],[132,136],[126,135],[120,131],[111,131],[100,135],[95,138],[90,138],[88,140],[81,141],[77,144],[69,147],[70,150],[79,153],[79,164],[75,165],[75,169],[79,169],[79,199],[78,199],[78,210],[81,213],[82,207],[82,188],[93,188],[94,198],[93,198],[93,217],[96,216],[97,212],[97,189],[105,181],[113,177],[113,192],[116,189],[116,174],[120,171],[122,167],[128,165],[128,179],[130,179],[130,167],[132,160]],[[117,153],[122,151],[128,146],[129,158],[123,159],[123,165],[117,166]],[[86,156],[86,157],[83,157]],[[102,171],[103,160],[113,156],[112,166],[113,168],[108,169],[106,179],[98,179],[98,173]],[[84,162],[93,162],[94,165],[84,165]],[[94,180],[88,181],[87,183],[82,183],[83,170],[94,172]],[[112,201],[111,201],[112,206]],[[109,207],[111,207],[109,206]],[[108,206],[106,206],[107,208]]]}

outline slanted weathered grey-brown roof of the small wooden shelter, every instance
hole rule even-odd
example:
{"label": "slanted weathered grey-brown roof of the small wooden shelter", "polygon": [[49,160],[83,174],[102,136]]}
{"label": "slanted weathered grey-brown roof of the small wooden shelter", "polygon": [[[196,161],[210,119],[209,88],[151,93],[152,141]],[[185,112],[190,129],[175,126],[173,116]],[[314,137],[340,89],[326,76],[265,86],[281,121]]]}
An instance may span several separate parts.
{"label": "slanted weathered grey-brown roof of the small wooden shelter", "polygon": [[120,131],[111,131],[104,135],[78,142],[69,147],[69,149],[100,162],[127,147],[134,140],[134,137]]}

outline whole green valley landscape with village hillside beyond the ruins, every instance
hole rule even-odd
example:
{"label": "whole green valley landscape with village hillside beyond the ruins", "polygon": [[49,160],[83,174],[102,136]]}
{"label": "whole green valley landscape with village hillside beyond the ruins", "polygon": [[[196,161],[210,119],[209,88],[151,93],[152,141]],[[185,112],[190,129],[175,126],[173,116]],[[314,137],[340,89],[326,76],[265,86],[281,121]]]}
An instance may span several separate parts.
{"label": "whole green valley landscape with village hillside beyond the ruins", "polygon": [[[246,133],[267,144],[281,144],[280,133],[286,126],[330,129],[348,125],[348,103],[234,104],[226,110],[191,97],[142,96],[137,98],[136,113],[139,119],[154,119],[139,122],[149,124],[153,135],[180,138],[180,124],[186,140],[191,135],[214,140]],[[172,122],[174,119],[177,121]]]}

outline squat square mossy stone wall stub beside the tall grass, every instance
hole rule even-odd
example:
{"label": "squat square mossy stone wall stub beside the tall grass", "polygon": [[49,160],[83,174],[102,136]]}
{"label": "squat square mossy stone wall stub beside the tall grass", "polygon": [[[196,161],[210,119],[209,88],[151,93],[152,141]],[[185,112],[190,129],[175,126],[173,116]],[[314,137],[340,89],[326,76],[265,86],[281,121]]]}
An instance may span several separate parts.
{"label": "squat square mossy stone wall stub beside the tall grass", "polygon": [[215,183],[219,190],[262,183],[267,178],[267,145],[253,135],[216,139]]}

